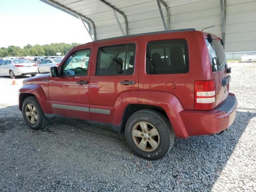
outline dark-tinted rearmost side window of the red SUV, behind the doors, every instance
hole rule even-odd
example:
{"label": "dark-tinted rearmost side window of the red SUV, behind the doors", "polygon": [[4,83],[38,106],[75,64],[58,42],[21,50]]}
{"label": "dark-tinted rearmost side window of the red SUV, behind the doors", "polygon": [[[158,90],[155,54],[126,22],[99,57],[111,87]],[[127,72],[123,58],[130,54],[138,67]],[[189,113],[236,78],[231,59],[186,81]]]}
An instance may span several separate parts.
{"label": "dark-tinted rearmost side window of the red SUV, behind the doors", "polygon": [[160,40],[147,44],[146,73],[176,74],[188,72],[186,40]]}

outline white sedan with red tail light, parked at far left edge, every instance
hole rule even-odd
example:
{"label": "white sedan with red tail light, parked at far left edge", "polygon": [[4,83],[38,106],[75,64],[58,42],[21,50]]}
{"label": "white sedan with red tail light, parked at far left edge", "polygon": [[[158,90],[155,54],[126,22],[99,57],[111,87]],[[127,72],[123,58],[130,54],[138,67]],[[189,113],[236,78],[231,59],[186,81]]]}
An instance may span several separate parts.
{"label": "white sedan with red tail light, parked at far left edge", "polygon": [[36,64],[25,59],[5,60],[0,63],[0,75],[16,76],[31,75],[36,76],[38,69]]}

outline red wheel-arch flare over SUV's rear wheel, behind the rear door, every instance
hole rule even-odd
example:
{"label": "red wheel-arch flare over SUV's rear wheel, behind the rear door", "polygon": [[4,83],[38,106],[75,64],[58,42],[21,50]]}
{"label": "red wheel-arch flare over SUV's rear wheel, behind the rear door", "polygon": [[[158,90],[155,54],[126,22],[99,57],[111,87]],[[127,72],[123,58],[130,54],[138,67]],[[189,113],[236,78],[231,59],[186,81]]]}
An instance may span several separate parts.
{"label": "red wheel-arch flare over SUV's rear wheel, behind the rear door", "polygon": [[173,94],[155,91],[139,91],[138,104],[148,104],[163,108],[172,124],[176,137],[188,138],[188,133],[180,116],[180,112],[184,109]]}

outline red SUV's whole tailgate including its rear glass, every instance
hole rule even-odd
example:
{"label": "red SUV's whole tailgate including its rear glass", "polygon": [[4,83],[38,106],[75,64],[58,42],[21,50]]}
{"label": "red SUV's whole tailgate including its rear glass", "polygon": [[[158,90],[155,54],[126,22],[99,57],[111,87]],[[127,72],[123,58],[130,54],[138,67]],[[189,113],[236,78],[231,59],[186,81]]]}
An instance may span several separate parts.
{"label": "red SUV's whole tailgate including its rear glass", "polygon": [[216,106],[228,97],[231,76],[227,74],[227,61],[224,48],[219,40],[209,43],[206,39],[210,60],[212,64],[212,76],[215,80]]}

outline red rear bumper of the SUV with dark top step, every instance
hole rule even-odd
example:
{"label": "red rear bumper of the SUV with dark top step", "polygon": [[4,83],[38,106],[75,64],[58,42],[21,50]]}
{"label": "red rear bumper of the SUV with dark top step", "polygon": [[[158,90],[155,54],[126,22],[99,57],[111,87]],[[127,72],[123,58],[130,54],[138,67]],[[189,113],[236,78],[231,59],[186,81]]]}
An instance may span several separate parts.
{"label": "red rear bumper of the SUV with dark top step", "polygon": [[230,93],[224,103],[214,110],[184,110],[180,116],[189,136],[216,134],[234,122],[236,106],[236,96]]}

